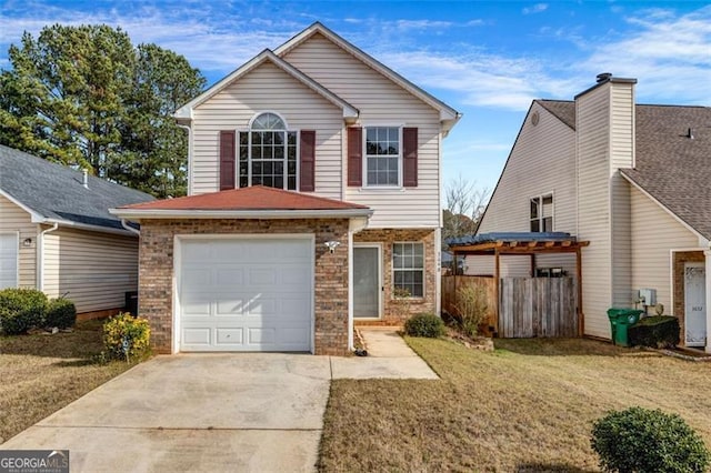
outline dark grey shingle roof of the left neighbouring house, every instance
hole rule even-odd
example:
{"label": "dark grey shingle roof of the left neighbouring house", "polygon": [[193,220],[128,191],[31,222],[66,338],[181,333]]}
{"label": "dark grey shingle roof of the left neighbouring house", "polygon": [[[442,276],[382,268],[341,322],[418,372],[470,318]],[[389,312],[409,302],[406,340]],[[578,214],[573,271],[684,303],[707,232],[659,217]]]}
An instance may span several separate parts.
{"label": "dark grey shingle roof of the left neighbouring house", "polygon": [[152,195],[0,145],[0,194],[29,212],[34,223],[128,231],[112,207],[153,200]]}

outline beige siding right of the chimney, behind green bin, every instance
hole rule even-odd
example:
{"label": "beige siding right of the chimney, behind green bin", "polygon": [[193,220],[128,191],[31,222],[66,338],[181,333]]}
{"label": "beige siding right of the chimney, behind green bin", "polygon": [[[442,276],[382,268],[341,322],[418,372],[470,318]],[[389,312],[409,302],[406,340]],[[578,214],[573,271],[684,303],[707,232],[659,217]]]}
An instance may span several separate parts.
{"label": "beige siding right of the chimney, behind green bin", "polygon": [[671,250],[697,248],[699,240],[638,189],[632,187],[630,192],[632,288],[655,289],[657,302],[664,305],[664,313],[683,316],[674,314],[671,305]]}

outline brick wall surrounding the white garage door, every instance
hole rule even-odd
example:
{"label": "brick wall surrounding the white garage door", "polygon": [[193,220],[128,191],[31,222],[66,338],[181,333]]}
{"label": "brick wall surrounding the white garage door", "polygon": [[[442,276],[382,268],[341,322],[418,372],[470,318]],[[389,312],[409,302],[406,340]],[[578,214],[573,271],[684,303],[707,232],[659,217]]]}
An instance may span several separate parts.
{"label": "brick wall surrounding the white garage door", "polygon": [[[143,220],[139,250],[139,312],[157,353],[172,342],[173,236],[188,234],[316,234],[314,353],[348,353],[348,219]],[[327,241],[341,244],[330,253]]]}

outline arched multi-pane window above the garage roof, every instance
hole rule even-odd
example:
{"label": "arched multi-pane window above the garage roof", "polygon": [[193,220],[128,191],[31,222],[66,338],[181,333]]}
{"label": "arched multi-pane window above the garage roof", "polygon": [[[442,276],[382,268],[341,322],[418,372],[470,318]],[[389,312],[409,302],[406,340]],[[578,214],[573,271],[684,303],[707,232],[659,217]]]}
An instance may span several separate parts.
{"label": "arched multi-pane window above the garage roof", "polygon": [[249,131],[240,132],[238,182],[240,188],[268,185],[297,190],[298,133],[273,112],[258,114]]}

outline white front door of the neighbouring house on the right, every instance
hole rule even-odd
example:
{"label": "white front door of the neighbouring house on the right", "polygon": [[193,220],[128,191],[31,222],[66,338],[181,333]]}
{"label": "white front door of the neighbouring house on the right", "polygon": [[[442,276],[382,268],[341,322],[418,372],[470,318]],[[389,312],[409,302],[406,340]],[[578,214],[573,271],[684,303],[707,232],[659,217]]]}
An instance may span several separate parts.
{"label": "white front door of the neighbouring house on the right", "polygon": [[707,342],[707,284],[704,263],[684,263],[684,312],[687,346]]}

